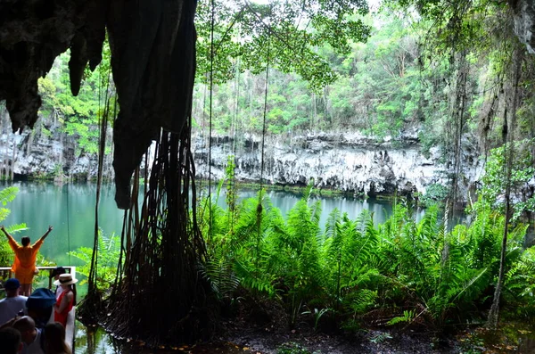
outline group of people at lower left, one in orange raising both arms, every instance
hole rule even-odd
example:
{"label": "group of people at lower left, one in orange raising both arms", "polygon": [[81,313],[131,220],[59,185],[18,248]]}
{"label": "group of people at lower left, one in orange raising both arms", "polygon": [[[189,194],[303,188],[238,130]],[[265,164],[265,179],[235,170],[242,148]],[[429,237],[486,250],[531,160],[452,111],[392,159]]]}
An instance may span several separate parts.
{"label": "group of people at lower left, one in orange raising both arms", "polygon": [[38,273],[37,251],[53,227],[49,226],[45,235],[31,245],[28,236],[22,237],[22,244],[19,244],[4,226],[0,226],[0,230],[15,253],[12,265],[15,277],[4,282],[6,297],[0,300],[2,352],[70,354],[70,346],[65,342],[65,327],[76,302],[75,284],[78,280],[58,267],[51,274],[53,284],[57,286],[55,292],[46,288],[32,292],[33,278]]}

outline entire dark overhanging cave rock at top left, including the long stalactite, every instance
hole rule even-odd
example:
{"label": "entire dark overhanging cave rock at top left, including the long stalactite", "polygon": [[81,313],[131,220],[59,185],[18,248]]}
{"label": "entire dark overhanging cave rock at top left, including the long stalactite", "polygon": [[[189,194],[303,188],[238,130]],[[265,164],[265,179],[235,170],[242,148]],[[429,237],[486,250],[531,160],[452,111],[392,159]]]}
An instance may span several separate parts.
{"label": "entire dark overhanging cave rock at top left, including the long stalactite", "polygon": [[194,0],[6,0],[0,3],[0,101],[13,131],[33,128],[41,98],[37,79],[71,50],[70,87],[78,95],[86,64],[102,59],[105,29],[119,95],[114,169],[119,208],[130,205],[129,184],[161,128],[179,132],[191,106]]}

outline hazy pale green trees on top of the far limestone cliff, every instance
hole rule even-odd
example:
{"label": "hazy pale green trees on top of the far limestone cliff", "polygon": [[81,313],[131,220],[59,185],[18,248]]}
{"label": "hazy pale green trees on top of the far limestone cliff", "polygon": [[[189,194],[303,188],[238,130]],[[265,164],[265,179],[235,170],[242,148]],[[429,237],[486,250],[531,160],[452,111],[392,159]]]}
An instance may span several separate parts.
{"label": "hazy pale green trees on top of the far limestone cliff", "polygon": [[[362,19],[366,26],[375,24],[366,43],[348,42],[346,49],[350,50],[342,53],[332,45],[317,46],[315,52],[325,58],[336,78],[328,82],[323,92],[288,73],[288,65],[269,71],[268,134],[354,129],[383,139],[398,138],[407,128],[425,127],[428,131],[421,136],[427,142],[426,151],[440,141],[437,122],[444,118],[448,104],[443,87],[436,83],[445,81],[448,72],[440,66],[423,70],[418,65],[419,32],[411,23],[395,15],[375,17],[367,15]],[[263,65],[257,58],[255,61]],[[307,64],[303,61],[302,65]],[[243,61],[236,66],[239,68],[235,70],[247,67]],[[212,119],[216,131],[262,132],[266,83],[264,75],[256,74],[259,70],[245,70],[237,74],[234,82],[218,82],[214,87]],[[196,94],[197,106],[204,106],[206,90],[198,89]],[[204,110],[194,111],[193,119],[200,123],[205,114]],[[428,134],[431,130],[432,134]]]}

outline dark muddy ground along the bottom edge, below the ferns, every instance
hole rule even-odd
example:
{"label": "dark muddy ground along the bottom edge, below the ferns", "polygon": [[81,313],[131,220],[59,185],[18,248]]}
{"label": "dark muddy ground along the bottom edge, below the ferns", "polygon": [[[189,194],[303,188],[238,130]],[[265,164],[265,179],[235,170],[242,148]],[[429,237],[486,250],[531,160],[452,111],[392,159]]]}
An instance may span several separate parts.
{"label": "dark muddy ground along the bottom edge, below the ferns", "polygon": [[[458,328],[449,335],[433,333],[424,326],[377,326],[358,321],[359,329],[342,331],[328,315],[314,322],[310,314],[296,318],[289,325],[287,311],[273,302],[249,303],[234,311],[222,313],[218,335],[208,343],[161,347],[150,350],[139,343],[119,344],[122,354],[189,353],[189,354],[535,354],[535,327],[522,323],[504,323],[498,331],[481,326]],[[316,327],[316,328],[315,328]],[[128,343],[127,343],[128,344]],[[292,350],[282,350],[282,349]],[[77,351],[78,352],[78,351]],[[110,351],[85,351],[103,354]]]}

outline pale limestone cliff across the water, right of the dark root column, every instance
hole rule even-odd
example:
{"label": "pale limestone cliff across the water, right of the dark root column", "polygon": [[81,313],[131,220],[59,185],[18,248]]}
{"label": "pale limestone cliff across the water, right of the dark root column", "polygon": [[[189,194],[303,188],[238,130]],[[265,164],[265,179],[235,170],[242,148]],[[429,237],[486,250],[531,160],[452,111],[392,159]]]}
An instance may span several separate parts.
{"label": "pale limestone cliff across the water, right of the dark root column", "polygon": [[[212,137],[211,177],[223,178],[227,156],[232,154],[232,139]],[[201,136],[195,140],[194,159],[197,177],[208,178],[209,146]],[[267,139],[264,171],[261,171],[261,139],[246,136],[243,151],[236,153],[235,176],[242,181],[270,184],[307,185],[311,179],[319,188],[333,188],[354,193],[425,193],[432,184],[448,183],[449,167],[440,162],[440,151],[429,156],[420,152],[416,134],[403,140],[376,142],[359,134],[296,136],[290,144]],[[473,187],[482,172],[476,149],[465,142],[461,195]]]}

